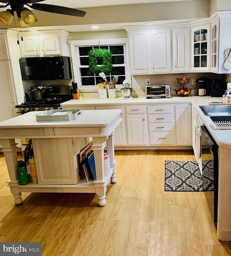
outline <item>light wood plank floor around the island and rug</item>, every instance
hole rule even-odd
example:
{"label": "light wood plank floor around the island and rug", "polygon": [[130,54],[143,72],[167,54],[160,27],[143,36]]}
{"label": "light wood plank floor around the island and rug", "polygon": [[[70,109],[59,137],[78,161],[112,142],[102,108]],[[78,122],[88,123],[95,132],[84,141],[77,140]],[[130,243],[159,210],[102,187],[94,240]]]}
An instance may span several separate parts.
{"label": "light wood plank floor around the island and rug", "polygon": [[164,192],[164,160],[192,152],[116,152],[107,204],[94,194],[29,194],[14,206],[0,154],[0,242],[42,242],[43,256],[227,256],[205,196]]}

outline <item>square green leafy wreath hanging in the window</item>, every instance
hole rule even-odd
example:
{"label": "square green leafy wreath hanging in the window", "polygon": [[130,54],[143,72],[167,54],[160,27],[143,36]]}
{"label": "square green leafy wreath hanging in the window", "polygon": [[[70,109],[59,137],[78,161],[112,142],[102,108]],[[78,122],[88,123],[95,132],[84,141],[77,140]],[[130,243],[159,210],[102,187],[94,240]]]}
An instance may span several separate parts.
{"label": "square green leafy wreath hanging in the window", "polygon": [[[104,72],[109,75],[112,71],[112,52],[107,49],[96,48],[88,52],[89,69],[94,74]],[[98,66],[98,60],[102,60],[102,66]]]}

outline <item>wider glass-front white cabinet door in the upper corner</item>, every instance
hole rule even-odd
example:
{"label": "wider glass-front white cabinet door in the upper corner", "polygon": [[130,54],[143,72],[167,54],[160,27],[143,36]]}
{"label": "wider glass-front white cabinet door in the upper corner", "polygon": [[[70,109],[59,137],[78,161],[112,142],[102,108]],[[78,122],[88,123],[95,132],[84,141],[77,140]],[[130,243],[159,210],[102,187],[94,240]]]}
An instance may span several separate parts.
{"label": "wider glass-front white cabinet door in the upper corner", "polygon": [[211,25],[192,27],[192,71],[210,71]]}

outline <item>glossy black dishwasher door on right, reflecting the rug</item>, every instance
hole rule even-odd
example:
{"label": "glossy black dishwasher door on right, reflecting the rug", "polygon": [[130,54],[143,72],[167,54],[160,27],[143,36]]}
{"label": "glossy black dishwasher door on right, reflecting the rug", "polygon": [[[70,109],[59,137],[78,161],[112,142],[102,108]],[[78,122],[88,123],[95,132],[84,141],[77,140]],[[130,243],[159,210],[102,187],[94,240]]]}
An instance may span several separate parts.
{"label": "glossy black dishwasher door on right, reflecting the rug", "polygon": [[213,221],[217,223],[218,146],[205,126],[201,126],[201,158],[203,189]]}

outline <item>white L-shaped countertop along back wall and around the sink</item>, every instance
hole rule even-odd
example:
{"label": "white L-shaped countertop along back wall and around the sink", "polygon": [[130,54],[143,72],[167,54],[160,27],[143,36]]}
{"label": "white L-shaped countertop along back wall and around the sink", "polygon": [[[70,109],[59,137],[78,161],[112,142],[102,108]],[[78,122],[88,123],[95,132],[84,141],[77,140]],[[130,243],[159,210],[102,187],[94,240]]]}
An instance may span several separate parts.
{"label": "white L-shaped countertop along back wall and around the sink", "polygon": [[191,96],[191,97],[171,97],[162,99],[146,99],[145,97],[133,98],[131,100],[122,100],[122,98],[100,100],[98,98],[84,98],[81,100],[69,100],[61,104],[62,107],[78,106],[78,105],[127,105],[127,104],[182,104],[191,103],[197,110],[197,113],[201,117],[203,123],[213,136],[214,140],[219,146],[225,148],[231,148],[231,130],[213,130],[211,124],[213,123],[209,116],[201,111],[199,106],[208,105],[209,102],[222,101],[222,98],[211,98],[210,96]]}

